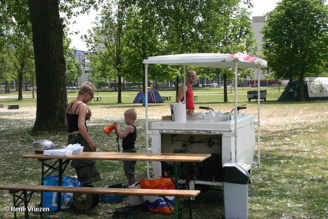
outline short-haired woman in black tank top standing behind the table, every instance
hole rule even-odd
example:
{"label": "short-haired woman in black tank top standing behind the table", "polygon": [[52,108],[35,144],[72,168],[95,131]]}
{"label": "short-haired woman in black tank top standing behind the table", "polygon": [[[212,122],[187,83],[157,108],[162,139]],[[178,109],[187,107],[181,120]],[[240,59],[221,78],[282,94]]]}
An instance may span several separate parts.
{"label": "short-haired woman in black tank top standing behind the table", "polygon": [[[78,96],[66,108],[67,143],[72,145],[80,144],[84,147],[83,151],[86,152],[95,152],[97,150],[88,134],[86,124],[91,116],[91,112],[88,113],[87,103],[91,101],[95,92],[96,88],[90,82],[84,83],[79,89]],[[94,160],[72,160],[71,167],[75,168],[77,179],[81,184],[88,185],[101,180],[95,163]]]}

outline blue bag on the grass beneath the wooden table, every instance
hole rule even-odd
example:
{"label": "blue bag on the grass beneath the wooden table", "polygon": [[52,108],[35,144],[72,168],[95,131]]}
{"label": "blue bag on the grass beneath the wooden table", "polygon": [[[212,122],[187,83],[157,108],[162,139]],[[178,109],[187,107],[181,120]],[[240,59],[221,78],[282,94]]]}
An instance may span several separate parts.
{"label": "blue bag on the grass beneath the wooden table", "polygon": [[[58,179],[57,175],[49,176],[45,181],[45,186],[58,186]],[[75,177],[65,176],[62,177],[61,186],[73,186],[73,187],[80,187],[82,186],[81,183]],[[57,192],[44,192],[43,193],[43,208],[49,208],[50,211],[57,210]],[[60,209],[70,208],[73,201],[73,193],[61,193],[61,203]]]}

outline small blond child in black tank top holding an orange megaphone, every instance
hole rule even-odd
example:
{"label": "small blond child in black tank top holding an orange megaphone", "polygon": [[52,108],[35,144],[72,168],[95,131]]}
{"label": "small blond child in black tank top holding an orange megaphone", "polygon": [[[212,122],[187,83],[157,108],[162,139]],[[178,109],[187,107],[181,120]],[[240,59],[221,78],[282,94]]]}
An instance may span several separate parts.
{"label": "small blond child in black tank top holding an orange megaphone", "polygon": [[[135,120],[137,118],[137,111],[132,108],[124,112],[124,121],[128,127],[121,132],[120,125],[115,122],[112,125],[104,128],[107,134],[115,130],[115,133],[120,139],[122,139],[122,148],[124,153],[136,153],[135,141],[137,139],[137,128],[135,126]],[[128,179],[128,185],[131,186],[135,183],[135,166],[136,161],[123,161],[124,172]]]}

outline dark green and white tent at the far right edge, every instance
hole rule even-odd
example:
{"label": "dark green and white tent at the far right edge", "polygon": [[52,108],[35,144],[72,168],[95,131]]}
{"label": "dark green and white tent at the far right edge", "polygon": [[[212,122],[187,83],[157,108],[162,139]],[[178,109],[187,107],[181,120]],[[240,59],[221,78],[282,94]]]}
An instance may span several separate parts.
{"label": "dark green and white tent at the far right edge", "polygon": [[[305,77],[304,100],[327,101],[328,77]],[[277,101],[299,101],[299,81],[289,82]]]}

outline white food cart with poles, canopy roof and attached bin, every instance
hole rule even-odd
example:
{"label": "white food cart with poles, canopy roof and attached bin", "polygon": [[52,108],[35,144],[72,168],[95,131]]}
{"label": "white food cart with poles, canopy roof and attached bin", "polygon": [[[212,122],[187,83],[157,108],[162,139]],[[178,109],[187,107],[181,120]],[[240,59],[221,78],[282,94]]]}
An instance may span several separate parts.
{"label": "white food cart with poles, canopy roof and attached bin", "polygon": [[[183,66],[183,82],[186,82],[186,66],[234,69],[237,85],[239,68],[259,69],[266,66],[263,59],[244,53],[193,53],[153,56],[145,59],[145,77],[148,81],[148,65]],[[254,115],[239,112],[235,87],[234,111],[229,113],[207,113],[186,121],[156,121],[148,127],[148,103],[146,102],[146,144],[148,152],[149,136],[152,137],[153,153],[211,153],[210,159],[200,164],[188,166],[190,189],[196,184],[217,185],[223,188],[224,215],[226,218],[248,218],[248,183],[252,166],[260,167],[260,101],[258,99],[257,121]],[[260,96],[260,90],[257,90]],[[185,94],[186,95],[186,94]],[[146,100],[147,92],[146,92]],[[185,96],[186,99],[186,96]],[[257,127],[257,141],[255,137]],[[257,161],[254,153],[257,145]],[[163,163],[153,162],[154,176],[166,173]],[[148,167],[149,176],[149,167]]]}

